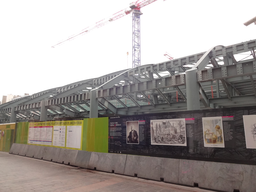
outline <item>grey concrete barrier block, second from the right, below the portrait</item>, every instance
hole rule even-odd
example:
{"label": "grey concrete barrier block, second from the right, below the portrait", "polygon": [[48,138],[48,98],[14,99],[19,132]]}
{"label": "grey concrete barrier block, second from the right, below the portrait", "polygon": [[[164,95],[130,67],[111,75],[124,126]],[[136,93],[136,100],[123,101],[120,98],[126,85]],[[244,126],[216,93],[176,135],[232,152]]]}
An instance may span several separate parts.
{"label": "grey concrete barrier block, second from the right, below the portrait", "polygon": [[127,155],[124,175],[178,183],[179,159]]}

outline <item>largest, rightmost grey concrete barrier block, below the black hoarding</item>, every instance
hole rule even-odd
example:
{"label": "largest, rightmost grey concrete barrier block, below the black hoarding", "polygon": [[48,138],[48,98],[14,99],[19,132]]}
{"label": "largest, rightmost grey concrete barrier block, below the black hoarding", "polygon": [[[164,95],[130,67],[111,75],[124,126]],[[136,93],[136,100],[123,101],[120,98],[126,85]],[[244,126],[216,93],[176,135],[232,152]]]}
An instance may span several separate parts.
{"label": "largest, rightmost grey concrete barrier block, below the black hoarding", "polygon": [[199,188],[233,192],[254,192],[256,166],[180,160],[178,183]]}

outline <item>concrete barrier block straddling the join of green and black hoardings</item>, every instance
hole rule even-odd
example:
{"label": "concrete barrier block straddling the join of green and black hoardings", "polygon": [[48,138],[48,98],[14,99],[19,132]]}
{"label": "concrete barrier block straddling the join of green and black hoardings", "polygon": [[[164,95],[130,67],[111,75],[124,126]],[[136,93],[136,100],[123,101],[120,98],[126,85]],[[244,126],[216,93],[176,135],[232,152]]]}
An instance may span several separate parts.
{"label": "concrete barrier block straddling the join of green and black hoardings", "polygon": [[94,169],[96,167],[96,170],[105,172],[114,170],[114,173],[124,174],[126,156],[123,154],[92,152],[88,168]]}

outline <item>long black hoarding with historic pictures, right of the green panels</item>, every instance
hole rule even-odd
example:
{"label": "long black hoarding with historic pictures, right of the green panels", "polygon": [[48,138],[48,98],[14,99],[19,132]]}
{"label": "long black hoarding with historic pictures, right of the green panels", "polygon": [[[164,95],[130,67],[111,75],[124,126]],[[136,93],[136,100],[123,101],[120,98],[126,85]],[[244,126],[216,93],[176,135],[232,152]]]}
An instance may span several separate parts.
{"label": "long black hoarding with historic pictures, right of the green panels", "polygon": [[[256,149],[246,148],[243,123],[243,115],[255,114],[256,109],[253,106],[109,118],[108,152],[256,165]],[[205,136],[207,127],[203,129],[203,118],[207,119],[206,117],[222,119],[220,127],[214,124],[215,127],[210,131],[209,140]],[[179,119],[185,119],[185,124],[176,123]],[[127,143],[127,137],[132,133],[130,133],[131,128],[126,127],[126,122],[130,121],[139,122],[139,143]],[[186,139],[181,133],[184,129]],[[221,130],[221,136],[217,133],[218,129]],[[184,140],[186,140],[186,146],[182,146]],[[220,140],[224,142],[225,147],[205,147],[208,141],[213,146],[218,146]]]}

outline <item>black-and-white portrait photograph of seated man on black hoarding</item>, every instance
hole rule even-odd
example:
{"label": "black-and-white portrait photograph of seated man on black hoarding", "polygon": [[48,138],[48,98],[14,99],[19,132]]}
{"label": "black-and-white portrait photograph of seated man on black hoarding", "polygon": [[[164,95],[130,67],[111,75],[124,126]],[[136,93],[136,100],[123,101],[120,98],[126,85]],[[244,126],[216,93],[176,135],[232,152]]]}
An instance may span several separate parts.
{"label": "black-and-white portrait photograph of seated man on black hoarding", "polygon": [[139,144],[139,121],[126,121],[127,143]]}

